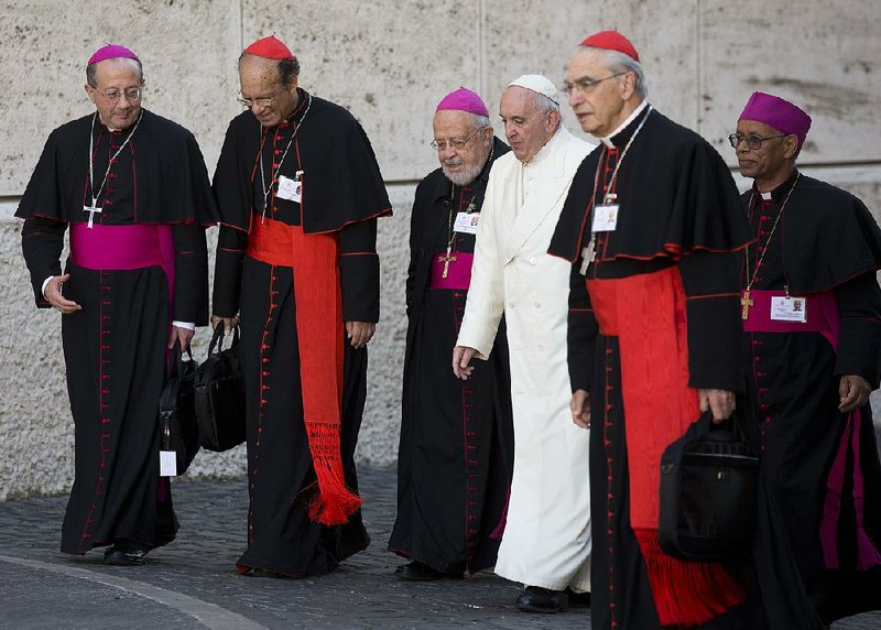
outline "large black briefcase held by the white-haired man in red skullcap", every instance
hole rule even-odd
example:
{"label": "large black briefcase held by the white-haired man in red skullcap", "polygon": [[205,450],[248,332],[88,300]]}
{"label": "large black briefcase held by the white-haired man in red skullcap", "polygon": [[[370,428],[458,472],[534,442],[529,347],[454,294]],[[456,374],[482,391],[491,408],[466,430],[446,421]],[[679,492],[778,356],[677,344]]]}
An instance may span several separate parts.
{"label": "large black briefcase held by the white-haired man in red skullcap", "polygon": [[705,413],[661,457],[661,548],[677,558],[722,561],[749,553],[759,457],[732,419]]}

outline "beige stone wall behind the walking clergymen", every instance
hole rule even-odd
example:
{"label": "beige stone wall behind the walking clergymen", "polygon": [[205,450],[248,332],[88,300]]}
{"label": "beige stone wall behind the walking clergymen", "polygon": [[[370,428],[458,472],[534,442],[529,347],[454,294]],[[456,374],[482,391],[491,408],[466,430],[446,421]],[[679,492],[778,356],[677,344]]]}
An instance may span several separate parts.
{"label": "beige stone wall behind the walking clergymen", "polygon": [[[436,166],[427,142],[440,96],[464,85],[494,112],[510,79],[537,72],[559,84],[577,42],[618,28],[642,53],[652,102],[698,130],[729,163],[724,139],[747,97],[774,91],[814,117],[802,155],[808,173],[878,211],[878,17],[873,0],[8,0],[0,12],[0,500],[70,484],[58,315],[33,308],[12,214],[48,132],[90,111],[83,64],[104,43],[138,52],[145,106],[194,131],[209,172],[239,111],[236,58],[259,36],[275,32],[298,55],[302,85],[361,120],[395,216],[380,228],[383,319],[371,344],[358,453],[389,464],[400,414],[410,204],[415,183]],[[241,472],[243,453],[199,455],[192,470]]]}

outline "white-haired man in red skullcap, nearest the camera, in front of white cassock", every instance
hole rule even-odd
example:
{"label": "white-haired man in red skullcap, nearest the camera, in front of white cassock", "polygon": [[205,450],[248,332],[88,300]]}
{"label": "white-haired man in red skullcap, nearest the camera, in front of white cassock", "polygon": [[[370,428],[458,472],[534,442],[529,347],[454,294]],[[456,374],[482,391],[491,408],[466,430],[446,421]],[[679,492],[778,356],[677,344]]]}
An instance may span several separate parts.
{"label": "white-haired man in red skullcap, nearest the camera, in front of white cassock", "polygon": [[741,388],[739,251],[721,156],[646,98],[617,31],[573,55],[565,91],[601,144],[575,175],[550,252],[573,262],[572,412],[590,427],[594,628],[754,628],[750,567],[683,562],[657,539],[660,459]]}

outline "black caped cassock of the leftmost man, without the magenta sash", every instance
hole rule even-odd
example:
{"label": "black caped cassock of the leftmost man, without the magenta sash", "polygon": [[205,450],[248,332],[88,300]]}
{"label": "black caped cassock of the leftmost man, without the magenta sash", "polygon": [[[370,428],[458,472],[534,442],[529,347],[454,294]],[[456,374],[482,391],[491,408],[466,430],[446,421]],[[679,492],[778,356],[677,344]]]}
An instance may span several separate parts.
{"label": "black caped cassock of the leftmost man, without the magenta sash", "polygon": [[[62,273],[68,224],[91,205],[93,116],[52,132],[22,197],[22,250],[34,296]],[[150,547],[174,540],[177,520],[167,478],[159,477],[159,394],[172,321],[208,322],[205,226],[216,220],[205,163],[193,134],[143,110],[137,131],[94,128],[95,188],[126,139],[98,197],[96,226],[171,225],[175,286],[170,304],[162,267],[86,269],[67,261],[64,295],[83,309],[62,317],[67,391],[75,424],[75,480],[62,551],[83,554],[115,541]]]}

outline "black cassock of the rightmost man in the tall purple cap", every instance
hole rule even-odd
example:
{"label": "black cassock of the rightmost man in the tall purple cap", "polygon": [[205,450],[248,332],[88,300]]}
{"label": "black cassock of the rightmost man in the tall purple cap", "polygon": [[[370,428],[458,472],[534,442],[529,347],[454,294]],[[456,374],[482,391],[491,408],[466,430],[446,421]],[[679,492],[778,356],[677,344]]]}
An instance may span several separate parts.
{"label": "black cassock of the rightmost man in the tall purple cap", "polygon": [[[819,333],[744,333],[748,387],[741,406],[747,411],[750,436],[761,447],[764,477],[785,524],[804,589],[828,623],[881,608],[881,567],[855,568],[850,475],[838,528],[840,568],[826,568],[819,533],[827,478],[847,425],[847,415],[837,409],[839,378],[861,376],[874,389],[881,376],[881,290],[875,279],[875,270],[881,268],[881,230],[852,195],[805,175],[793,188],[796,176],[793,172],[768,200],[757,192],[744,193],[757,247],[749,249],[742,283],[747,285],[748,267],[750,279],[755,276],[753,290],[788,287],[793,297],[805,297],[808,306],[818,300],[817,294],[831,292],[841,319],[838,349],[836,352]],[[864,524],[879,545],[881,467],[868,404],[861,413]],[[851,453],[849,474],[852,465]],[[757,554],[760,571],[784,564],[780,560],[781,554],[785,557],[784,545],[774,544],[761,530],[760,536],[768,550]],[[771,615],[791,607],[800,595],[797,587],[794,593],[790,588],[777,595]]]}

